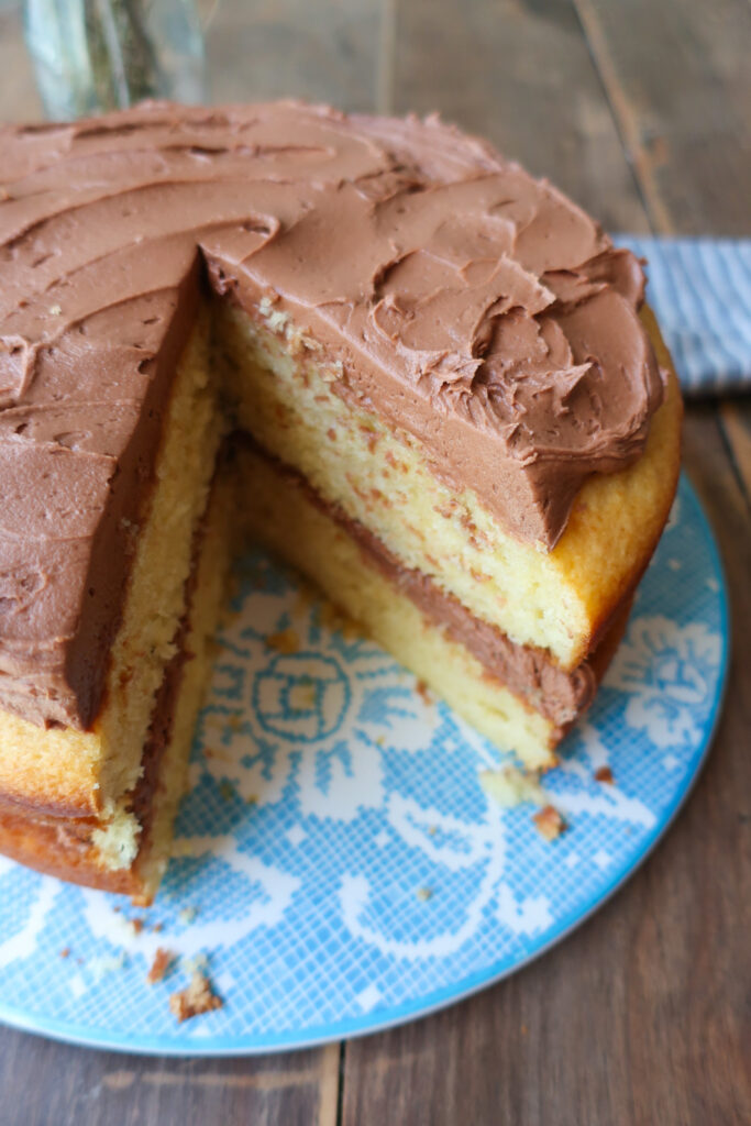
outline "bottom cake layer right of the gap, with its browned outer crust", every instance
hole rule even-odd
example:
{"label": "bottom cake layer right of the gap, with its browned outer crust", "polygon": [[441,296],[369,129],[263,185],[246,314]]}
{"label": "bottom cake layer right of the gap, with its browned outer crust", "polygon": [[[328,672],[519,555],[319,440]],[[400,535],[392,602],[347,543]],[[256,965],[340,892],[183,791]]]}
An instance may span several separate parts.
{"label": "bottom cake layer right of the gap, with its browned outer crust", "polygon": [[[312,580],[497,747],[515,751],[531,770],[555,765],[555,748],[591,703],[620,641],[631,598],[619,608],[596,653],[570,678],[588,689],[579,694],[578,703],[569,700],[563,716],[556,715],[540,691],[545,676],[539,651],[521,653],[528,658],[528,690],[524,691],[519,683],[511,690],[509,677],[501,679],[497,674],[499,663],[503,669],[506,654],[493,663],[484,655],[486,646],[476,640],[455,640],[457,633],[466,635],[465,622],[461,631],[456,628],[456,607],[441,606],[437,614],[423,597],[422,584],[418,589],[417,580],[405,580],[403,572],[396,581],[390,577],[385,548],[364,529],[358,534],[357,526],[324,504],[294,471],[250,445],[243,446],[238,456],[238,511],[243,513],[251,539],[265,544]],[[483,623],[476,623],[479,635],[483,628]],[[546,671],[552,672],[552,667]]]}

